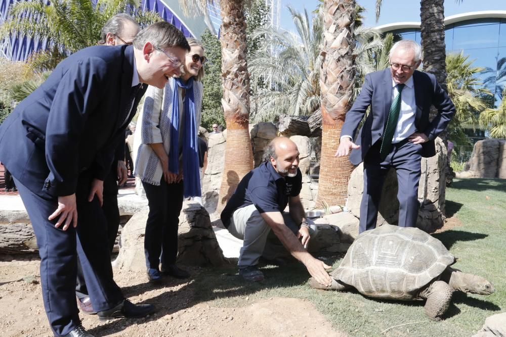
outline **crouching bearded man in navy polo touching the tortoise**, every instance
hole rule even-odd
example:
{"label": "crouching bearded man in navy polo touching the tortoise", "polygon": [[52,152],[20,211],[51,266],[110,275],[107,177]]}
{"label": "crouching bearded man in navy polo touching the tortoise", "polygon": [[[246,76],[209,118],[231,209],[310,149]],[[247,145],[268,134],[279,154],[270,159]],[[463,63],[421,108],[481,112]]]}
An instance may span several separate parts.
{"label": "crouching bearded man in navy polo touching the tortoise", "polygon": [[[305,249],[310,230],[299,196],[302,173],[297,145],[288,138],[274,138],[264,159],[242,178],[221,213],[228,231],[244,242],[239,274],[247,281],[261,281],[264,274],[258,269],[259,259],[279,264],[279,256],[288,251],[319,283],[330,284],[325,271],[330,267]],[[288,213],[283,212],[286,205]]]}

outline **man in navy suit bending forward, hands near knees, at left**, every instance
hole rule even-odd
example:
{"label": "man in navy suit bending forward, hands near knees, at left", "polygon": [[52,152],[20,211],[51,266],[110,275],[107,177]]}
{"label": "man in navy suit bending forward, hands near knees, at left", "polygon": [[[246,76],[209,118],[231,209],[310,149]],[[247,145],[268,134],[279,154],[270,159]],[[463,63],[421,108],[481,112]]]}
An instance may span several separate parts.
{"label": "man in navy suit bending forward, hands near knees, at left", "polygon": [[99,318],[141,317],[154,309],[126,300],[113,280],[103,180],[145,84],[163,88],[180,74],[189,50],[185,36],[167,22],[139,32],[133,46],[83,49],[63,60],[0,126],[0,160],[32,222],[44,305],[57,336],[91,336],[75,301],[77,256]]}

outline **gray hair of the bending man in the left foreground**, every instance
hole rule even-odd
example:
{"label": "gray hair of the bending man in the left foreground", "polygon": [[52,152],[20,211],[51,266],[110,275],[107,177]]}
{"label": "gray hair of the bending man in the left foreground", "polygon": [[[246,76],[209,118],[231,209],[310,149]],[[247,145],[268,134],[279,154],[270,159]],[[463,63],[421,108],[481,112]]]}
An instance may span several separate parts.
{"label": "gray hair of the bending man in the left foreground", "polygon": [[190,45],[183,32],[166,21],[155,22],[141,30],[134,38],[135,49],[141,50],[146,42],[151,42],[161,49],[180,47],[190,51]]}

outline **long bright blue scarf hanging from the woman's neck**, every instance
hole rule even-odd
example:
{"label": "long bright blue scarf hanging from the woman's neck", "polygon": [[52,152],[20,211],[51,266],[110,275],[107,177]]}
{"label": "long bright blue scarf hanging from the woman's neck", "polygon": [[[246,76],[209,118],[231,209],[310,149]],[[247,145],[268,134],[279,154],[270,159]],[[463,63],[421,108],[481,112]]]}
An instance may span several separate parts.
{"label": "long bright blue scarf hanging from the woman's neck", "polygon": [[174,78],[171,119],[171,150],[168,155],[168,170],[179,173],[179,88],[186,90],[184,98],[183,131],[183,179],[184,197],[200,197],[200,172],[198,165],[197,126],[195,119],[195,98],[193,96],[193,77],[184,84]]}

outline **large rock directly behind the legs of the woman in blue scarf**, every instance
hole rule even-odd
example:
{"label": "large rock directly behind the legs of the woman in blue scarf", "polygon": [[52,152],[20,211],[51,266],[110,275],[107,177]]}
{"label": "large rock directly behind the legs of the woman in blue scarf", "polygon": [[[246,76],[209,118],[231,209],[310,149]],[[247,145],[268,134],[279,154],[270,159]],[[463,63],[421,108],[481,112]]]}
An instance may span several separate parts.
{"label": "large rock directly behind the legs of the woman in blue scarf", "polygon": [[[144,233],[148,213],[149,209],[145,208],[126,223],[114,268],[138,272],[146,270]],[[179,219],[178,263],[221,266],[227,262],[204,208],[185,202]]]}

